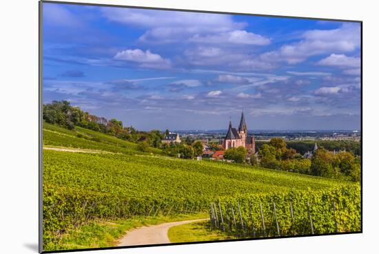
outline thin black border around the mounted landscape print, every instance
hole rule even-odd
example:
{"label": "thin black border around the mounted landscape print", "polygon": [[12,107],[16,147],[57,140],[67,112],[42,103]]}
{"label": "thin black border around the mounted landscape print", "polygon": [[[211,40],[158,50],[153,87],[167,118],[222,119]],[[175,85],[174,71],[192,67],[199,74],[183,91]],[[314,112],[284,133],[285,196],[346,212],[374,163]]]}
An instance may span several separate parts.
{"label": "thin black border around the mounted landscape print", "polygon": [[[273,17],[273,18],[285,18],[285,19],[310,19],[318,21],[337,21],[337,22],[352,22],[360,23],[360,231],[354,232],[339,232],[339,233],[325,233],[314,235],[287,235],[280,237],[259,237],[259,238],[244,238],[244,239],[231,239],[231,240],[214,240],[203,242],[181,242],[181,243],[169,243],[169,244],[144,244],[134,246],[114,246],[104,248],[78,248],[69,250],[57,250],[57,251],[43,251],[43,3],[58,3],[58,4],[70,4],[79,6],[100,6],[100,7],[112,7],[112,8],[132,8],[132,9],[145,9],[145,10],[167,10],[167,11],[179,11],[179,12],[200,12],[210,14],[232,14],[232,15],[245,15],[256,17]],[[175,9],[175,8],[157,8],[146,6],[125,6],[118,4],[105,4],[105,3],[77,3],[70,1],[39,1],[39,253],[65,253],[65,252],[77,252],[77,251],[99,251],[99,250],[112,250],[112,249],[125,249],[125,248],[145,248],[152,246],[174,246],[174,245],[186,245],[186,244],[207,244],[207,243],[219,243],[219,242],[242,242],[252,240],[267,240],[267,239],[285,239],[294,237],[314,237],[323,235],[351,235],[363,233],[363,21],[349,20],[349,19],[329,19],[329,18],[316,18],[316,17],[296,17],[296,16],[284,16],[274,14],[252,14],[241,12],[221,12],[221,11],[209,11],[209,10],[188,10],[188,9]]]}

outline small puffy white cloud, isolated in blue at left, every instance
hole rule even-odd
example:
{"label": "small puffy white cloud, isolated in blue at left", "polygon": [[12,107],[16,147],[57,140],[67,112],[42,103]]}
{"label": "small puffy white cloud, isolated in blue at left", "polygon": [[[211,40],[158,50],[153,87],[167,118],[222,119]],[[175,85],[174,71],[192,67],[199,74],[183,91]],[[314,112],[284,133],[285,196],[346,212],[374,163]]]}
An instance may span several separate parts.
{"label": "small puffy white cloud, isolated in blue at left", "polygon": [[163,59],[159,54],[154,54],[150,50],[123,50],[117,52],[114,56],[115,60],[129,61],[133,63],[139,63],[140,67],[152,67],[158,69],[165,69],[170,67],[170,60]]}

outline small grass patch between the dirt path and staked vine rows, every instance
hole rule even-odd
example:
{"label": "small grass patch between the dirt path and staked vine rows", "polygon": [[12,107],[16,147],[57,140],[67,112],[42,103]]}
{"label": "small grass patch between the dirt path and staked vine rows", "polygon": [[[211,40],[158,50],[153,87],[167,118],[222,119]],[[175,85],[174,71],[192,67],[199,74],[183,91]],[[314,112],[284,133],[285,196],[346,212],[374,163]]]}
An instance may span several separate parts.
{"label": "small grass patch between the dirt path and staked vine rows", "polygon": [[172,226],[168,230],[168,237],[171,242],[204,242],[236,238],[222,231],[211,231],[209,221]]}

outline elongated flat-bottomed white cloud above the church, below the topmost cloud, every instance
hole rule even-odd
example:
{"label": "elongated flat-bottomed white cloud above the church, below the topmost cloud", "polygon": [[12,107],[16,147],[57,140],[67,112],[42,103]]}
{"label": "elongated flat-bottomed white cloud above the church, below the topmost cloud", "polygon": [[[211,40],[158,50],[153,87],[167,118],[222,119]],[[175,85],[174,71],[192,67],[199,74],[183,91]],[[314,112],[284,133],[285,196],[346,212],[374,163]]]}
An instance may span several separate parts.
{"label": "elongated flat-bottomed white cloud above the church, below the topmost cloud", "polygon": [[232,43],[246,45],[267,45],[271,42],[264,36],[247,32],[245,30],[234,30],[219,34],[207,34],[204,36],[195,34],[191,39],[189,39],[189,41],[196,43]]}

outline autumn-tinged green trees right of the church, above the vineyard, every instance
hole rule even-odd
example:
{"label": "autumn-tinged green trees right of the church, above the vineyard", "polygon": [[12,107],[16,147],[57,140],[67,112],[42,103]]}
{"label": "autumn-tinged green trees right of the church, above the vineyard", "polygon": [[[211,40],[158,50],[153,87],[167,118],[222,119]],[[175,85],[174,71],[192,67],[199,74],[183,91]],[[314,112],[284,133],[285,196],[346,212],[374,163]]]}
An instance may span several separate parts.
{"label": "autumn-tinged green trees right of the church, above the vineyard", "polygon": [[[269,169],[278,169],[313,176],[360,181],[360,156],[349,151],[335,154],[320,146],[311,158],[303,158],[296,149],[288,147],[283,138],[272,138],[260,145],[258,154],[247,158],[247,150],[233,147],[225,151],[224,158]],[[248,160],[246,160],[246,158]]]}

